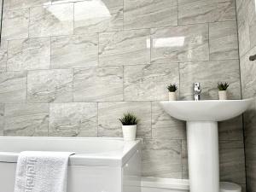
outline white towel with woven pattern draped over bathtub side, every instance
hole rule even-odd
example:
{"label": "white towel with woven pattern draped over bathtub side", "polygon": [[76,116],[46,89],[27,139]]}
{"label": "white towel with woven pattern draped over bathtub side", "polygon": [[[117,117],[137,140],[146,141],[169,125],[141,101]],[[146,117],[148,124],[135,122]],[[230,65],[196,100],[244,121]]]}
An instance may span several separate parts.
{"label": "white towel with woven pattern draped over bathtub side", "polygon": [[19,155],[15,192],[66,192],[71,152],[24,151]]}

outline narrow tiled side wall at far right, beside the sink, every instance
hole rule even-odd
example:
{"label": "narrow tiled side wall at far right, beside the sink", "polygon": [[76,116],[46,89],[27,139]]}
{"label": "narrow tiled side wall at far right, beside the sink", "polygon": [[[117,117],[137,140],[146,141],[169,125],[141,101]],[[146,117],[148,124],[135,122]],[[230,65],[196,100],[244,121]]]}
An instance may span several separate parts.
{"label": "narrow tiled side wall at far right, beside the sink", "polygon": [[247,192],[256,192],[256,7],[254,0],[236,0],[241,59],[242,97],[254,97],[255,102],[244,115]]}

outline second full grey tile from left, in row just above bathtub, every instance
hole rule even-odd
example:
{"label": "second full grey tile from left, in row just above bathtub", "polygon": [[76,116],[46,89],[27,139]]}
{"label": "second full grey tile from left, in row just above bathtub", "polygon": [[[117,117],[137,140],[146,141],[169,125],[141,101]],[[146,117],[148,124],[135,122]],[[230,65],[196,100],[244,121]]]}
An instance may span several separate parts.
{"label": "second full grey tile from left, in row just above bathtub", "polygon": [[97,103],[50,103],[49,136],[96,137]]}

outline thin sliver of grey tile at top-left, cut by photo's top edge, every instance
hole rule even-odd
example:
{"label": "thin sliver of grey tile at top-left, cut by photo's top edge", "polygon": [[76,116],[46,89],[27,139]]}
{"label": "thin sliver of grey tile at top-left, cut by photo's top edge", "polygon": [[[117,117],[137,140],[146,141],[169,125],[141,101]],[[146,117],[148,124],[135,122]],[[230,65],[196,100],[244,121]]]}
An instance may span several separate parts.
{"label": "thin sliver of grey tile at top-left, cut by photo's top edge", "polygon": [[50,4],[49,0],[7,0],[3,3],[3,9],[25,9]]}

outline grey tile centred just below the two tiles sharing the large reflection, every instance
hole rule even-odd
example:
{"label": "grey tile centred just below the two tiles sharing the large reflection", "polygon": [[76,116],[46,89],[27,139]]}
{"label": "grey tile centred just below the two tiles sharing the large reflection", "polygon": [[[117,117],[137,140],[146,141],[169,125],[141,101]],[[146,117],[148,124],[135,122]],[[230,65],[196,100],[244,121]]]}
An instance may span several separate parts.
{"label": "grey tile centred just below the two tiles sharing the large reflection", "polygon": [[96,67],[97,35],[51,38],[51,68]]}

